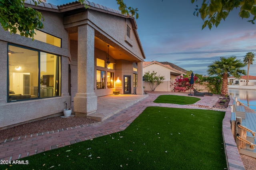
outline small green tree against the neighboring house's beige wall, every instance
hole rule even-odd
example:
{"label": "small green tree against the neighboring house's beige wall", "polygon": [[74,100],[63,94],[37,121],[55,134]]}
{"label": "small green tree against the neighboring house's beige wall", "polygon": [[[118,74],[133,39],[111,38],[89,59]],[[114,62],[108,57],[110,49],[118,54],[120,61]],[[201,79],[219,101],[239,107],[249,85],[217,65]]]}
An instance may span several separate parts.
{"label": "small green tree against the neighboring house's beige wall", "polygon": [[144,81],[149,83],[151,91],[155,91],[156,87],[163,83],[165,79],[164,76],[157,76],[155,71],[153,71],[152,73],[150,73],[149,71],[145,72],[143,77],[145,79]]}

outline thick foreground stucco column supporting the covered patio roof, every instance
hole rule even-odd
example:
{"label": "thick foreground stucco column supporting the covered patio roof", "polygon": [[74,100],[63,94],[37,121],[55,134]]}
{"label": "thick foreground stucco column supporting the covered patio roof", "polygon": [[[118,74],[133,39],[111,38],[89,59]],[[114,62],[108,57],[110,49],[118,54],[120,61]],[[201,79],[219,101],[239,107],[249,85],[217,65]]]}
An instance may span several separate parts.
{"label": "thick foreground stucco column supporting the covered patio roof", "polygon": [[89,25],[78,27],[78,93],[74,97],[74,112],[87,116],[97,110],[94,93],[94,29]]}

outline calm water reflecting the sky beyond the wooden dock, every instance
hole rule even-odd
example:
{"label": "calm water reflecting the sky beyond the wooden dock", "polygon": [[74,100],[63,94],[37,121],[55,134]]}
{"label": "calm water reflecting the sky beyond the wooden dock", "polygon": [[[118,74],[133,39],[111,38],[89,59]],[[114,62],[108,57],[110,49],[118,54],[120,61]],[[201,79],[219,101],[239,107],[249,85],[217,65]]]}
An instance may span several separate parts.
{"label": "calm water reflecting the sky beyond the wooden dock", "polygon": [[228,93],[233,99],[237,97],[238,101],[244,103],[245,106],[247,106],[246,104],[249,104],[248,106],[256,111],[256,90],[228,89]]}

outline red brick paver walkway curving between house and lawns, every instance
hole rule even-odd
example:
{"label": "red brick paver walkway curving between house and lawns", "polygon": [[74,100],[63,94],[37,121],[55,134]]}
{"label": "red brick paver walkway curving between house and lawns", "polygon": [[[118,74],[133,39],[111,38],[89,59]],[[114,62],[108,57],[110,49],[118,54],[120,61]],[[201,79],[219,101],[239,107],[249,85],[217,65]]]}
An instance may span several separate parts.
{"label": "red brick paver walkway curving between house and lawns", "polygon": [[[170,94],[188,95],[188,93]],[[199,97],[201,100],[196,102],[194,105],[153,103],[153,101],[159,95],[161,94],[150,93],[148,97],[142,101],[122,110],[121,112],[102,122],[1,140],[0,160],[16,160],[47,150],[124,130],[148,106],[210,109],[216,103],[216,101],[218,101],[218,97],[214,95]]]}

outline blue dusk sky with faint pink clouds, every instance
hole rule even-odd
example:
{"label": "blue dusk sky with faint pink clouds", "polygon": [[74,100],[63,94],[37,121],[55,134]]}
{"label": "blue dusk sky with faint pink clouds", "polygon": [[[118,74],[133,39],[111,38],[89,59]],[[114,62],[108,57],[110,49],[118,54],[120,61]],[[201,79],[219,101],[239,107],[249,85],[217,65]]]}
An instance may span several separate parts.
{"label": "blue dusk sky with faint pink clouds", "polygon": [[[90,1],[118,10],[116,0]],[[69,2],[74,1],[47,0],[54,5]],[[202,30],[204,21],[193,15],[196,3],[191,4],[190,0],[124,0],[124,3],[139,10],[137,32],[145,61],[168,61],[207,75],[207,66],[220,57],[236,56],[243,61],[246,53],[256,54],[256,25],[240,18],[239,10],[233,10],[218,28]],[[250,65],[249,74],[256,76],[256,63]]]}

